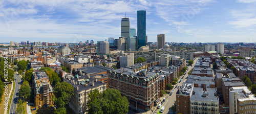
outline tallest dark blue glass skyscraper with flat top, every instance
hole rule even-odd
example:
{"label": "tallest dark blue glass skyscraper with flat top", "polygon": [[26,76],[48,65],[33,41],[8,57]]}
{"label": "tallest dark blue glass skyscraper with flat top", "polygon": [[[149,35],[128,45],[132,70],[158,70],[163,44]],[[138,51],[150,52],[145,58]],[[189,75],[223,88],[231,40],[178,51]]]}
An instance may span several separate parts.
{"label": "tallest dark blue glass skyscraper with flat top", "polygon": [[137,39],[138,49],[146,46],[146,11],[137,11]]}

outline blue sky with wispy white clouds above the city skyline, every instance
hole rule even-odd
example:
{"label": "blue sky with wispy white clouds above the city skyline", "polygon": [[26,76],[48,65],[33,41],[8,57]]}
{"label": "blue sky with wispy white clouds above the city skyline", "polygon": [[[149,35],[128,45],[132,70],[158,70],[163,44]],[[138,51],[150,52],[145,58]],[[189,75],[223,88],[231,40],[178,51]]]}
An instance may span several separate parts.
{"label": "blue sky with wispy white clouds above the city skyline", "polygon": [[151,42],[256,42],[256,0],[4,0],[0,42],[118,38],[125,14],[137,31],[137,10]]}

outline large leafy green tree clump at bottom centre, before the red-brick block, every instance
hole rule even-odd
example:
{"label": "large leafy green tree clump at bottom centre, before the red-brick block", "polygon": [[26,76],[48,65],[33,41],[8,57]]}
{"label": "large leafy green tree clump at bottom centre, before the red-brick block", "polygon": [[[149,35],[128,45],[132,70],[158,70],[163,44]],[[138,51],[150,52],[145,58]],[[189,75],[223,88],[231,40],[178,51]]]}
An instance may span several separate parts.
{"label": "large leafy green tree clump at bottom centre, before the red-brick block", "polygon": [[118,89],[106,89],[103,94],[94,89],[89,94],[88,113],[127,113],[129,101],[122,97]]}

